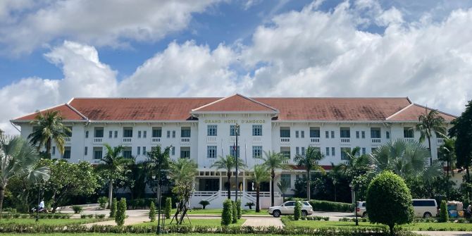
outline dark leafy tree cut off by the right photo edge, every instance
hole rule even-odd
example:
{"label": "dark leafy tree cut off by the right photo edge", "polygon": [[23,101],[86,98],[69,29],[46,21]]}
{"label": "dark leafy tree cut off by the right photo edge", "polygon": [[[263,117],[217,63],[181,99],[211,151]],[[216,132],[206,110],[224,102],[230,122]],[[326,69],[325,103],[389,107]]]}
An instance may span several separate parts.
{"label": "dark leafy tree cut off by the right photo edge", "polygon": [[466,110],[461,116],[452,121],[453,127],[449,129],[449,136],[456,137],[454,145],[457,156],[457,166],[466,169],[467,182],[471,182],[468,168],[472,161],[472,100],[468,101]]}

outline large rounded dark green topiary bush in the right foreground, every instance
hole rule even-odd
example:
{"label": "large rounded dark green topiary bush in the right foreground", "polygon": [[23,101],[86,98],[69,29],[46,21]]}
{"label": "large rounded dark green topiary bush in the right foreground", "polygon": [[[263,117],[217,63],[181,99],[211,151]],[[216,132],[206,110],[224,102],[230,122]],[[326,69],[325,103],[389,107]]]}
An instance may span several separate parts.
{"label": "large rounded dark green topiary bush in the right foreground", "polygon": [[366,211],[371,223],[388,225],[390,235],[394,235],[395,224],[411,223],[414,209],[410,190],[404,180],[391,171],[375,176],[368,185]]}

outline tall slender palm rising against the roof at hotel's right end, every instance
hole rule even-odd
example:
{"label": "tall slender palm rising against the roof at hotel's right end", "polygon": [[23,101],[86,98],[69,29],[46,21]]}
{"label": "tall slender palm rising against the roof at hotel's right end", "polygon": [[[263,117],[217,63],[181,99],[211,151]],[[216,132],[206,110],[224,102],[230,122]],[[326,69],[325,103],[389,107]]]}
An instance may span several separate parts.
{"label": "tall slender palm rising against the roof at hotel's right end", "polygon": [[433,132],[442,137],[446,134],[445,128],[445,118],[440,116],[437,110],[426,109],[424,114],[418,116],[418,123],[415,126],[415,130],[421,133],[420,142],[424,142],[425,139],[428,139],[428,150],[430,151],[430,165],[433,164],[433,158],[431,157],[431,137],[433,137]]}

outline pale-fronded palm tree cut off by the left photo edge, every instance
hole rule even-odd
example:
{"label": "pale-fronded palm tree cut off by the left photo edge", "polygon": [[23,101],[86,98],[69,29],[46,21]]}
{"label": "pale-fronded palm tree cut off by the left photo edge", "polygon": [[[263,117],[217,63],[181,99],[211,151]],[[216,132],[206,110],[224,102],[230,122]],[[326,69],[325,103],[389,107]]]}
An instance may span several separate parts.
{"label": "pale-fronded palm tree cut off by the left photo edge", "polygon": [[37,168],[39,154],[21,137],[0,137],[0,217],[8,181],[21,176],[28,184],[49,180],[48,167]]}

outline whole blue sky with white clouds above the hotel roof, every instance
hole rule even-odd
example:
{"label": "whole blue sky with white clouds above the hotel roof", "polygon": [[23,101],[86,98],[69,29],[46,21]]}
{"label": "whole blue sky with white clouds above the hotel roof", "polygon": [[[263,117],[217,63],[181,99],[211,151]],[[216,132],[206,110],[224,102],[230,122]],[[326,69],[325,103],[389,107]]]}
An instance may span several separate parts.
{"label": "whole blue sky with white clouds above the hotel roof", "polygon": [[472,75],[472,35],[460,32],[472,23],[471,6],[427,0],[4,0],[0,99],[11,103],[0,106],[8,111],[0,128],[11,130],[8,119],[71,97],[234,92],[410,97],[459,114],[472,97],[463,86]]}

